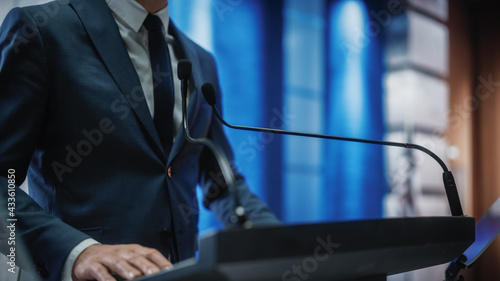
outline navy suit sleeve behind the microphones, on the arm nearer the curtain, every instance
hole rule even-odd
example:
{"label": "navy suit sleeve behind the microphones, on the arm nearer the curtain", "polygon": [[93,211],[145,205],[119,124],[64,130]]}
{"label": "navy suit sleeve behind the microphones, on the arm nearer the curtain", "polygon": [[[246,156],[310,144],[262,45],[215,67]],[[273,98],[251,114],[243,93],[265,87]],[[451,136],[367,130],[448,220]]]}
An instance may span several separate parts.
{"label": "navy suit sleeve behind the microphones, on the arm nearer the curtain", "polygon": [[[214,85],[216,99],[218,101],[217,106],[219,112],[222,112],[220,105],[221,91],[218,83],[215,61],[211,55],[207,55],[206,57],[207,59],[203,64],[209,66],[207,72],[213,75],[209,81]],[[240,202],[245,208],[249,219],[256,226],[281,224],[269,207],[250,191],[244,177],[235,169],[231,145],[224,133],[222,124],[215,115],[212,117],[211,122],[208,137],[222,148],[224,154],[227,156],[235,175],[235,188],[237,189]],[[205,149],[201,156],[201,161],[203,170],[200,185],[205,194],[204,205],[214,212],[226,228],[232,227],[234,224],[230,222],[230,217],[234,213],[235,208],[234,194],[227,188],[220,167],[212,152]]]}

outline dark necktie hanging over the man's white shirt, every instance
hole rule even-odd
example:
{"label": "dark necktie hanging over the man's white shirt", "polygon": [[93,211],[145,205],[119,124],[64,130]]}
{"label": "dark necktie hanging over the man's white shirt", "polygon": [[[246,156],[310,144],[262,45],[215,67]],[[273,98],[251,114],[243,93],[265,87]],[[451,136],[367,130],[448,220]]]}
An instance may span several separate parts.
{"label": "dark necktie hanging over the man's white shirt", "polygon": [[174,84],[170,54],[163,36],[161,19],[149,14],[144,21],[144,26],[149,34],[149,59],[153,71],[153,121],[163,149],[168,156],[174,138]]}

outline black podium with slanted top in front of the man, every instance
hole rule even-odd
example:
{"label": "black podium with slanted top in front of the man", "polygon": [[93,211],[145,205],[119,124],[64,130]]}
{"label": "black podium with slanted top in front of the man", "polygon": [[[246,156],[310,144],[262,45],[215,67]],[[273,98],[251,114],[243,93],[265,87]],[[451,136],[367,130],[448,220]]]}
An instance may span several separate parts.
{"label": "black podium with slanted top in front of the man", "polygon": [[137,280],[382,281],[457,258],[474,242],[474,223],[423,217],[221,231],[200,240],[198,260]]}

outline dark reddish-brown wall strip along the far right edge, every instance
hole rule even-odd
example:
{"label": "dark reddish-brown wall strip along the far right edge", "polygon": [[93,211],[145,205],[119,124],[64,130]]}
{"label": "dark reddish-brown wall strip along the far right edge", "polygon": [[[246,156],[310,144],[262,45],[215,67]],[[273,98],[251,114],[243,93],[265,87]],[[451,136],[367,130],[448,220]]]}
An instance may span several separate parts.
{"label": "dark reddish-brown wall strip along the far right edge", "polygon": [[[500,196],[500,19],[498,3],[475,9],[476,77],[483,88],[476,93],[481,102],[475,116],[474,213],[482,216]],[[495,85],[496,84],[496,85]],[[498,280],[500,240],[478,261],[477,280]]]}

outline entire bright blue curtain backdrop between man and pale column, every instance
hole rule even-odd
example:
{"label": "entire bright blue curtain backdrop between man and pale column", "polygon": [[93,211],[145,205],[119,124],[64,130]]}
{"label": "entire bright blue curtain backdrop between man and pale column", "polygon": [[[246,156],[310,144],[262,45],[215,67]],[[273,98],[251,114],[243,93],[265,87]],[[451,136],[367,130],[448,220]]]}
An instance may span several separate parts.
{"label": "entire bright blue curtain backdrop between man and pale column", "polygon": [[[175,24],[214,54],[230,123],[382,139],[383,32],[370,33],[370,3],[169,3]],[[382,215],[381,148],[226,133],[249,186],[286,223]],[[220,228],[200,216],[202,232]]]}

